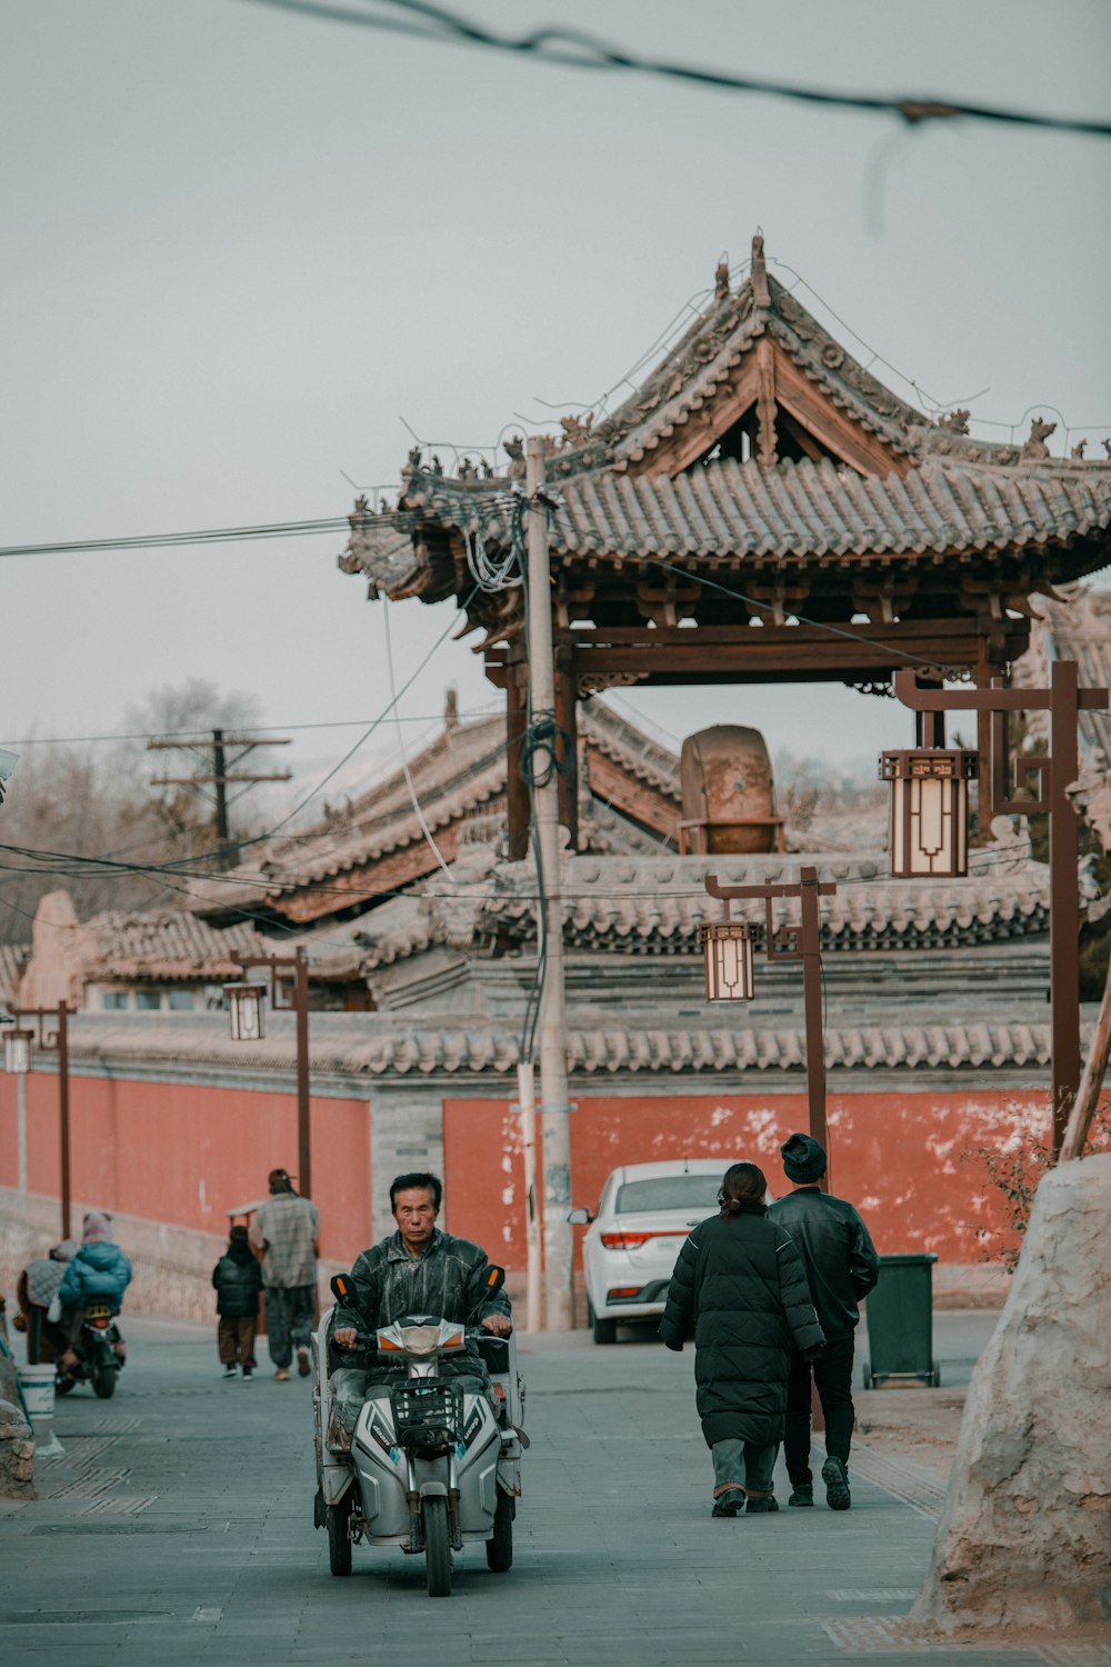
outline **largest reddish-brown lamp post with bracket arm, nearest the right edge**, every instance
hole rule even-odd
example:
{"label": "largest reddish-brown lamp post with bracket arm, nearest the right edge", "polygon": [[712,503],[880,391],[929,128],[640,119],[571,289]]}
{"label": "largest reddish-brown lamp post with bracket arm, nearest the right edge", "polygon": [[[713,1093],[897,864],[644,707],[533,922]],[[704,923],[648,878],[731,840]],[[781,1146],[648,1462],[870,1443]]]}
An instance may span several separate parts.
{"label": "largest reddish-brown lamp post with bracket arm, nearest the right edge", "polygon": [[[1079,773],[1078,727],[1081,710],[1106,710],[1106,688],[1079,688],[1074,660],[1056,660],[1048,688],[941,688],[919,687],[913,672],[894,673],[894,693],[911,712],[933,715],[934,747],[943,743],[946,712],[989,713],[991,760],[988,793],[993,815],[1039,815],[1049,820],[1049,999],[1053,1052],[1053,1155],[1061,1150],[1069,1107],[1079,1087],[1079,857],[1078,817],[1068,788]],[[1034,797],[1014,798],[1008,745],[1011,712],[1049,713],[1049,755],[1021,763]],[[884,753],[884,760],[898,757]],[[881,763],[881,772],[884,763]],[[889,772],[893,773],[893,772]],[[894,782],[896,792],[899,782]],[[894,818],[893,818],[894,825]],[[956,854],[959,840],[953,842]],[[923,872],[921,865],[916,872]],[[929,872],[929,870],[924,870]],[[934,867],[933,874],[956,875],[964,867]]]}

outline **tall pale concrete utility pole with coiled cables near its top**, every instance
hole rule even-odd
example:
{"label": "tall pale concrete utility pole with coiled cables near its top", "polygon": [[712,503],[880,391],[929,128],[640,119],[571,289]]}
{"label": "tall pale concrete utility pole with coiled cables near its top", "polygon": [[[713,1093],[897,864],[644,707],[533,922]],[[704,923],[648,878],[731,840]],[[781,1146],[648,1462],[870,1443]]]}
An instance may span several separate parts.
{"label": "tall pale concrete utility pole with coiled cables near its top", "polygon": [[[533,783],[536,864],[543,880],[543,989],[540,992],[540,1112],[545,1169],[545,1325],[571,1329],[571,1124],[566,1085],[566,1010],[563,990],[563,899],[560,895],[560,780],[555,768],[555,655],[551,648],[551,575],[543,442],[525,452],[528,493],[528,723],[535,758],[538,732],[548,730],[551,768]],[[530,762],[531,767],[531,762]]]}

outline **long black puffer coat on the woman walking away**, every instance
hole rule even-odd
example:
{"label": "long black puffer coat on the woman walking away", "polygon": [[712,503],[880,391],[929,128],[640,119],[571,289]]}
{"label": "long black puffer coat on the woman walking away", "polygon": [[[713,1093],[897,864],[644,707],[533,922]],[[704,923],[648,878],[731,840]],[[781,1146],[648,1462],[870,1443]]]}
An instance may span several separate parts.
{"label": "long black puffer coat on the woman walking away", "polygon": [[695,1337],[698,1415],[706,1445],[783,1440],[795,1350],[825,1342],[803,1260],[763,1204],[711,1215],[680,1250],[660,1324],[668,1347]]}

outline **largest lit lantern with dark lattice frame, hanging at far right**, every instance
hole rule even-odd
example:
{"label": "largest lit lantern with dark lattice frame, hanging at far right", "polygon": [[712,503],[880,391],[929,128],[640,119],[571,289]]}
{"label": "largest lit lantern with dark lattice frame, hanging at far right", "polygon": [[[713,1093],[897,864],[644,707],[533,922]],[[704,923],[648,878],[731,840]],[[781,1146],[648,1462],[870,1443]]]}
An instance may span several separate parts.
{"label": "largest lit lantern with dark lattice frame, hanging at far right", "polygon": [[896,880],[968,875],[968,783],[979,753],[966,747],[909,747],[879,755],[891,782],[888,865]]}

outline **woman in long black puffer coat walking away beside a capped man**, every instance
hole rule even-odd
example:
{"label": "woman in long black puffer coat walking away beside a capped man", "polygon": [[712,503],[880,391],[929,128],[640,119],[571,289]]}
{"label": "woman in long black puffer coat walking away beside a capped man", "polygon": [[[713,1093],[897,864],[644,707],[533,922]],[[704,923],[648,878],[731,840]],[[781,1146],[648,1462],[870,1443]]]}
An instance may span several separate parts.
{"label": "woman in long black puffer coat walking away beside a capped man", "polygon": [[768,1184],[733,1164],[718,1215],[686,1239],[675,1264],[660,1335],[668,1349],[695,1339],[698,1415],[713,1454],[713,1515],[778,1510],[771,1485],[783,1440],[791,1355],[825,1347],[803,1259],[768,1220]]}

